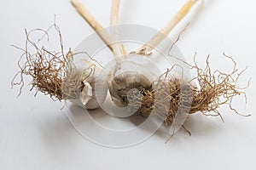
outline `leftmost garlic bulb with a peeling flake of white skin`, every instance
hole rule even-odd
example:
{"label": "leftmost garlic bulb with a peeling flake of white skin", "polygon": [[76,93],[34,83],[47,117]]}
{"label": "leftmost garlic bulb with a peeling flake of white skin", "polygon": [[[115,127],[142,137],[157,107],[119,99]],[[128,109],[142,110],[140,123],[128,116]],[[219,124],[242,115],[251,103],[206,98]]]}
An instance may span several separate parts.
{"label": "leftmost garlic bulb with a peeling flake of white skin", "polygon": [[96,109],[99,102],[106,99],[107,91],[102,91],[101,99],[96,98],[96,83],[106,82],[102,78],[96,78],[101,68],[90,61],[74,63],[67,71],[67,76],[62,83],[63,96],[71,100],[73,105],[79,105],[86,109]]}

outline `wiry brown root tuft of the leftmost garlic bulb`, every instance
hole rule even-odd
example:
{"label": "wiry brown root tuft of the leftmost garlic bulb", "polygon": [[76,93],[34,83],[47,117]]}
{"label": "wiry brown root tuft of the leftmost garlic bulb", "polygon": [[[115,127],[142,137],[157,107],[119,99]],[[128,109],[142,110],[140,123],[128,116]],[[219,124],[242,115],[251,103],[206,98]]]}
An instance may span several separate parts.
{"label": "wiry brown root tuft of the leftmost garlic bulb", "polygon": [[[42,41],[44,37],[47,37],[49,41],[49,30],[55,28],[58,33],[60,42],[60,51],[54,52],[49,51],[40,47],[39,42]],[[31,34],[35,32],[43,32],[44,36],[38,40],[38,42],[33,42],[31,40]],[[18,48],[14,46],[15,48]],[[56,24],[49,27],[48,30],[44,31],[42,29],[35,29],[32,31],[26,31],[26,46],[25,49],[19,48],[24,53],[20,56],[18,65],[20,71],[17,72],[13,81],[11,82],[12,87],[14,85],[20,86],[21,90],[24,86],[24,76],[32,77],[32,89],[36,89],[36,94],[41,92],[45,95],[49,95],[51,99],[78,99],[81,90],[84,88],[83,80],[81,80],[81,75],[77,74],[78,71],[76,66],[73,65],[73,54],[71,49],[68,50],[67,54],[64,52],[61,31]],[[32,51],[34,51],[32,53]],[[93,74],[95,65],[90,65],[88,67],[89,74],[84,77],[86,79]],[[19,95],[20,95],[19,94]]]}

